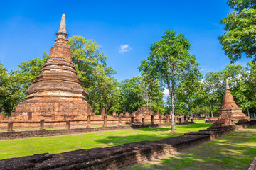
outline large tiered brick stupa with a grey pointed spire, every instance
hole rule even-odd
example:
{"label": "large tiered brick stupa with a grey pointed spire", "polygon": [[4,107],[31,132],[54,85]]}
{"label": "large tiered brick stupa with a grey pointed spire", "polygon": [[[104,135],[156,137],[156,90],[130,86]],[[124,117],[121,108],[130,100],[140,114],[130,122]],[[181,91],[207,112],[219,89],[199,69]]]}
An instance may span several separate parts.
{"label": "large tiered brick stupa with a grey pointed spire", "polygon": [[32,112],[33,120],[56,119],[64,116],[85,118],[87,115],[87,92],[77,76],[72,54],[68,45],[65,14],[60,21],[58,38],[51,47],[46,64],[41,74],[35,78],[33,84],[26,90],[26,101],[16,106],[11,117],[22,119]]}

